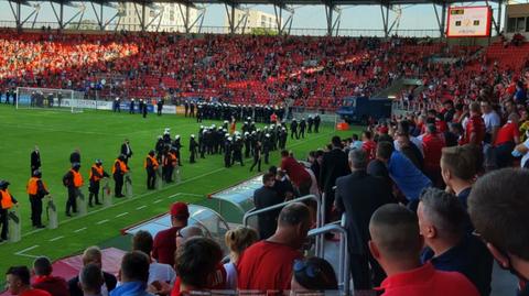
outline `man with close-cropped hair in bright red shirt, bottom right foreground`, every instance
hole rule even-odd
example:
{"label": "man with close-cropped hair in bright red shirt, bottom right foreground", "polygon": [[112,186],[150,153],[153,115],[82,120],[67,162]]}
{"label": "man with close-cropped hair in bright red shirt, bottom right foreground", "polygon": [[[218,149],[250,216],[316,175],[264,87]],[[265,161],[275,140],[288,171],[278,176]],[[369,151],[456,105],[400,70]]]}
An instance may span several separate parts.
{"label": "man with close-cropped hair in bright red shirt, bottom right foreground", "polygon": [[388,275],[380,285],[382,296],[478,296],[461,273],[421,265],[424,243],[417,215],[396,204],[376,210],[369,222],[369,250]]}

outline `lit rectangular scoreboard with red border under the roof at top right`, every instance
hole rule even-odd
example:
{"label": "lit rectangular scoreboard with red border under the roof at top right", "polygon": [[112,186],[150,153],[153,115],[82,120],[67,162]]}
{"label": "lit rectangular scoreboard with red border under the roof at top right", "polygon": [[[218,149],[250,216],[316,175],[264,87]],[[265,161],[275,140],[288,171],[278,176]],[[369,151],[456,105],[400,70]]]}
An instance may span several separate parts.
{"label": "lit rectangular scoreboard with red border under the roof at top right", "polygon": [[488,37],[493,10],[490,7],[451,7],[449,9],[449,37]]}

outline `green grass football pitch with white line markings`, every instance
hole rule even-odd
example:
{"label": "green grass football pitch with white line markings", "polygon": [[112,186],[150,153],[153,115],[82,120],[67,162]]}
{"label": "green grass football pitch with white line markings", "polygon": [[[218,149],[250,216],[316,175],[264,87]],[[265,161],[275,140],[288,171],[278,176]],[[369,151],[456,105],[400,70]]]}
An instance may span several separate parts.
{"label": "green grass football pitch with white line markings", "polygon": [[[205,160],[198,158],[197,163],[190,164],[190,135],[197,134],[201,124],[219,125],[220,122],[216,121],[197,123],[196,119],[173,114],[149,114],[143,119],[140,114],[95,110],[85,110],[83,113],[15,110],[12,106],[2,105],[0,123],[0,179],[11,183],[9,190],[19,201],[18,211],[22,224],[20,242],[0,244],[0,272],[11,265],[30,265],[37,255],[56,260],[79,253],[89,245],[105,245],[119,237],[121,229],[165,212],[171,202],[182,200],[201,204],[208,194],[258,174],[257,169],[249,173],[250,158],[245,160],[244,167],[236,164],[225,168],[222,155],[206,155]],[[154,149],[156,138],[164,128],[171,129],[173,138],[175,134],[182,136],[182,182],[148,191],[143,160]],[[306,134],[304,140],[291,140],[289,136],[287,146],[294,152],[296,158],[304,160],[311,150],[323,147],[334,134],[350,136],[352,131],[335,132],[334,127],[323,125],[320,133]],[[62,177],[69,169],[69,154],[75,149],[80,150],[80,172],[85,179],[83,193],[87,198],[88,172],[94,161],[102,160],[105,169],[110,173],[126,138],[130,140],[134,153],[129,161],[133,198],[114,199],[111,207],[96,206],[88,208],[88,213],[84,217],[67,218],[67,193]],[[57,207],[60,226],[54,230],[34,230],[31,227],[25,185],[30,178],[30,153],[34,145],[40,147],[43,180]],[[279,165],[279,151],[272,152],[270,165]],[[263,163],[262,169],[268,169],[270,165]],[[110,184],[114,188],[112,182]],[[43,222],[47,223],[45,208]]]}

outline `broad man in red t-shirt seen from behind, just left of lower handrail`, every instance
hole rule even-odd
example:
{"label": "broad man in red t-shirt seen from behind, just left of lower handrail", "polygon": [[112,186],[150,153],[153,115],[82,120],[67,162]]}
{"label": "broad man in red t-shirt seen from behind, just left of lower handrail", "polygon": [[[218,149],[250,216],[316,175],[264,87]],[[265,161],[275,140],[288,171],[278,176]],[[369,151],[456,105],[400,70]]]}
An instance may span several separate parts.
{"label": "broad man in red t-shirt seen from behind, just left of lower handrail", "polygon": [[292,264],[301,259],[311,219],[309,208],[294,202],[281,210],[276,233],[248,248],[237,264],[240,290],[290,289]]}

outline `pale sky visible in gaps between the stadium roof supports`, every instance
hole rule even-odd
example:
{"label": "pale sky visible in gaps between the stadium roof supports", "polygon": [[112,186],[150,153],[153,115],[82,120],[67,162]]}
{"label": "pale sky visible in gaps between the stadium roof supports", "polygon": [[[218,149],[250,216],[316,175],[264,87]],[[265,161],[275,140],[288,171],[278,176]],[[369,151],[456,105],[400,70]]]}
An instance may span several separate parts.
{"label": "pale sky visible in gaps between the stadium roof supports", "polygon": [[[468,3],[466,3],[468,4]],[[471,6],[483,4],[483,2],[472,2]],[[56,6],[58,8],[58,6]],[[272,6],[250,6],[249,8],[261,10],[273,14]],[[342,8],[342,22],[341,29],[350,29],[350,30],[382,30],[382,18],[380,13],[379,6],[343,6]],[[434,30],[439,31],[438,21],[435,18],[435,12],[432,4],[421,4],[421,6],[401,6],[402,17],[400,19],[399,29],[400,30],[420,30],[415,34],[432,35]],[[98,7],[96,6],[98,10]],[[323,32],[326,29],[326,18],[325,9],[323,6],[306,6],[306,7],[294,7],[295,12],[293,15],[292,30],[296,29],[315,29],[312,31],[312,34],[315,32]],[[22,19],[31,13],[32,9],[23,7],[22,9]],[[107,8],[105,11],[105,20],[114,14],[114,9]],[[504,10],[505,11],[505,10]],[[64,19],[68,20],[77,12],[76,9],[65,7]],[[493,4],[493,13],[497,13],[497,4]],[[287,19],[289,13],[283,12],[283,18]],[[390,12],[390,23],[395,19],[396,13]],[[226,10],[224,6],[210,4],[206,7],[206,17],[204,20],[205,26],[224,26],[226,17]],[[504,15],[501,17],[504,18]],[[86,7],[85,20],[96,20],[93,9],[89,4]],[[32,19],[31,19],[32,20]],[[9,7],[8,1],[0,1],[0,25],[4,26],[4,21],[14,21],[13,14]],[[43,2],[41,4],[41,11],[37,18],[37,22],[56,22],[53,10],[51,9],[50,2]],[[430,30],[430,31],[425,31]],[[310,30],[304,31],[311,33]],[[435,31],[436,32],[436,31]],[[364,35],[369,32],[363,33]],[[373,32],[370,32],[373,33]]]}

